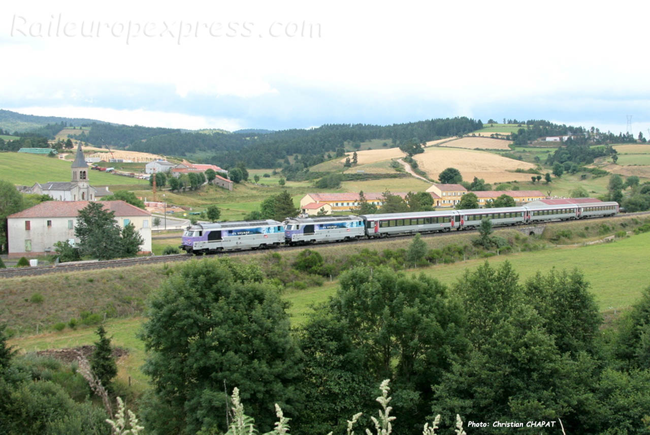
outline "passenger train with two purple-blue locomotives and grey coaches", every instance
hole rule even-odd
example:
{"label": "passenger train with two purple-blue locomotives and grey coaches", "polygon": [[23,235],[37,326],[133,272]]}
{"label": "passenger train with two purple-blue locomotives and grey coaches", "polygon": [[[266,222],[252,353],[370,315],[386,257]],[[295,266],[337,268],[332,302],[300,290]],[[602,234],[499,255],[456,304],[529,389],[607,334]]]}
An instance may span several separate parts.
{"label": "passenger train with two purple-blue locomotives and grey coaches", "polygon": [[619,213],[617,202],[577,198],[529,203],[521,207],[417,211],[374,215],[295,217],[277,220],[198,223],[183,233],[180,249],[188,254],[270,248],[281,245],[335,243],[414,233],[470,230],[488,218],[493,226],[510,226],[607,217]]}

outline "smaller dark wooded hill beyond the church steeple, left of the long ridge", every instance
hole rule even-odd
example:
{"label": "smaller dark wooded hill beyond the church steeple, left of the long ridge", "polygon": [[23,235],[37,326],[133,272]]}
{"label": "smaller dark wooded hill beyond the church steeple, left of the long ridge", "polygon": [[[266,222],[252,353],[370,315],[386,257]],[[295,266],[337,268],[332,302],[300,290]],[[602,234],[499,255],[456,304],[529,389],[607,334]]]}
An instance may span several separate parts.
{"label": "smaller dark wooded hill beyond the church steeple, left of the long ridge", "polygon": [[[125,148],[130,144],[148,140],[160,135],[172,135],[180,133],[180,129],[162,127],[142,127],[140,125],[122,124],[89,124],[90,131],[84,131],[80,135],[72,136],[73,139],[83,140],[95,146],[113,146]],[[203,133],[196,133],[203,134]],[[175,154],[175,153],[170,153]]]}

